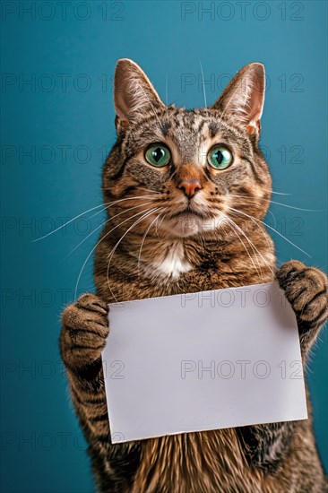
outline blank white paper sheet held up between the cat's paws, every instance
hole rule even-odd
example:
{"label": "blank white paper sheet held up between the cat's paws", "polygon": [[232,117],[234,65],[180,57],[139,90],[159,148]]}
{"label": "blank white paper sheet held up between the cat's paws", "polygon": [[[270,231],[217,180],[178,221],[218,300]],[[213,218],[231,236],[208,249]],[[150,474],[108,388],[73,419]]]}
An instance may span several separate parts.
{"label": "blank white paper sheet held up between the cat's paws", "polygon": [[306,419],[298,327],[278,285],[110,305],[112,443]]}

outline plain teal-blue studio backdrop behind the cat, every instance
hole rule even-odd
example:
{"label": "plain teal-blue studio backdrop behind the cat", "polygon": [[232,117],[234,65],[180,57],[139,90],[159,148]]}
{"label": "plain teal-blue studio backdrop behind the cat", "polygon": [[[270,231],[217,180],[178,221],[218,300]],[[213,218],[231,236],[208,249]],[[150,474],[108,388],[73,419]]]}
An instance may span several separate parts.
{"label": "plain teal-blue studio backdrop behind the cat", "polygon": [[[57,348],[103,216],[101,167],[115,142],[113,72],[133,58],[163,100],[207,104],[263,62],[262,146],[278,203],[326,209],[326,2],[30,2],[2,9],[2,470],[5,493],[94,491]],[[200,64],[201,62],[201,64]],[[273,198],[273,197],[272,197]],[[326,212],[272,204],[279,263],[327,269]],[[276,221],[276,222],[275,222]],[[82,245],[70,254],[83,239]],[[305,253],[293,247],[295,243]],[[66,258],[65,258],[66,257]],[[94,290],[92,255],[78,292]],[[328,470],[327,333],[308,366]],[[300,440],[299,446],[306,446]]]}

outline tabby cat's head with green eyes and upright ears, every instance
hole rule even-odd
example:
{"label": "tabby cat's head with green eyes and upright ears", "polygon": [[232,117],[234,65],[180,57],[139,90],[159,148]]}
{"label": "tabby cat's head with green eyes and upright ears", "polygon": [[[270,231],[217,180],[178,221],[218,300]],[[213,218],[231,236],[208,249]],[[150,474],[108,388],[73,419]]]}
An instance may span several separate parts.
{"label": "tabby cat's head with green eyes and upright ears", "polygon": [[138,65],[119,60],[117,143],[103,170],[109,214],[125,225],[134,217],[136,231],[153,225],[169,238],[224,236],[231,220],[236,231],[250,216],[262,219],[272,187],[258,147],[264,89],[263,65],[250,64],[211,107],[176,108],[160,100]]}

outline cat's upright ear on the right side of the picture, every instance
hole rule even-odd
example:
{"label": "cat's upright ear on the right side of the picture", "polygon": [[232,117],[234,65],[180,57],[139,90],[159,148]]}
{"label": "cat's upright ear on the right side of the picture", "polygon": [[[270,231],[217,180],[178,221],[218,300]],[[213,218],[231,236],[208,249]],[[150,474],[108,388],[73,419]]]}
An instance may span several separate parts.
{"label": "cat's upright ear on the right side of the picture", "polygon": [[211,106],[244,125],[249,134],[259,133],[263,112],[265,71],[262,64],[249,64],[229,82],[220,98]]}

